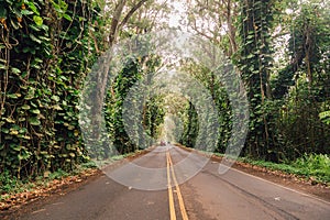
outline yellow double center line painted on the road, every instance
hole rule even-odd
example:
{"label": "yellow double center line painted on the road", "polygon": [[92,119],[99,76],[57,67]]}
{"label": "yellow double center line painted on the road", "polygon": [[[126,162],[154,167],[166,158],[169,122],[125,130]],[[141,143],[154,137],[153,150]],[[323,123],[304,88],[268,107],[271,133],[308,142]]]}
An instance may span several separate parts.
{"label": "yellow double center line painted on the road", "polygon": [[173,179],[175,188],[176,188],[177,199],[178,199],[178,202],[179,202],[179,208],[180,208],[183,220],[188,220],[188,216],[187,216],[187,212],[186,212],[183,195],[182,195],[180,188],[178,186],[178,183],[177,183],[177,179],[176,179],[176,176],[175,176],[175,173],[174,173],[173,162],[172,162],[172,158],[170,158],[169,151],[166,152],[166,163],[167,163],[167,186],[168,186],[168,200],[169,200],[170,220],[176,220],[176,213],[175,213],[175,207],[174,207],[174,197],[173,197],[173,190],[172,190],[172,179]]}

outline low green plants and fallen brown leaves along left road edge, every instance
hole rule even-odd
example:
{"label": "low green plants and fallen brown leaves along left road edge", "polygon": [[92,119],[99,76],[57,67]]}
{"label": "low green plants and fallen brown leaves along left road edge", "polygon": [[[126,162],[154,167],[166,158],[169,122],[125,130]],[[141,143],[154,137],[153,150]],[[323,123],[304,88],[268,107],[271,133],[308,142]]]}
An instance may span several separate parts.
{"label": "low green plants and fallen brown leaves along left road edge", "polygon": [[[116,163],[123,158],[139,155],[141,151],[135,151],[128,154],[116,155],[112,156],[111,160],[112,163]],[[43,176],[31,179],[18,178],[12,176],[9,172],[4,172],[0,175],[0,210],[8,209],[10,202],[21,205],[29,199],[47,196],[47,194],[55,190],[61,191],[62,187],[80,183],[96,174],[99,174],[99,169],[92,161],[77,164],[72,170],[63,170],[59,168],[56,172],[44,173]]]}

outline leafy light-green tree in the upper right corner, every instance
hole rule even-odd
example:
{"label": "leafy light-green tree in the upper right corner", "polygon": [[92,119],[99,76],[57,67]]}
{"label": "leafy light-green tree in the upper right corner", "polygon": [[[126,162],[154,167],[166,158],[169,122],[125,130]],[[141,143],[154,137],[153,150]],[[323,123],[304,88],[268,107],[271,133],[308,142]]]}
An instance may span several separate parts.
{"label": "leafy light-green tree in the upper right corner", "polygon": [[[295,2],[295,1],[294,1]],[[329,9],[320,1],[309,1],[301,4],[290,2],[287,9],[292,11],[288,21],[288,56],[289,64],[274,80],[274,96],[283,98],[290,86],[299,78],[298,72],[306,74],[311,87],[314,81],[327,72],[329,54]],[[292,6],[293,4],[293,6]]]}

